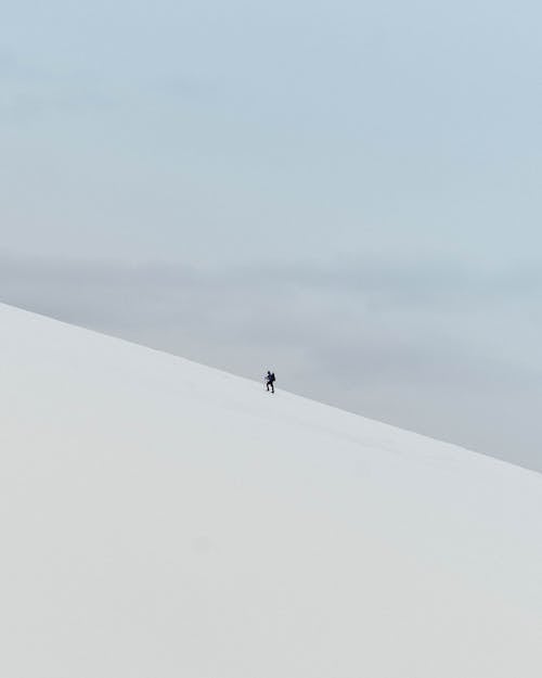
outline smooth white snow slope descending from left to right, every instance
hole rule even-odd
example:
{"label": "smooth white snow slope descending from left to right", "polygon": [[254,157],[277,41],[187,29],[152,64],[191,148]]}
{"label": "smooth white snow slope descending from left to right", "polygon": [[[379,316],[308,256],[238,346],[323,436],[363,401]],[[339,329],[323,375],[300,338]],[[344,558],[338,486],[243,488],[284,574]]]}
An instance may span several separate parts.
{"label": "smooth white snow slope descending from left to right", "polygon": [[0,328],[1,677],[542,675],[542,475],[8,306]]}

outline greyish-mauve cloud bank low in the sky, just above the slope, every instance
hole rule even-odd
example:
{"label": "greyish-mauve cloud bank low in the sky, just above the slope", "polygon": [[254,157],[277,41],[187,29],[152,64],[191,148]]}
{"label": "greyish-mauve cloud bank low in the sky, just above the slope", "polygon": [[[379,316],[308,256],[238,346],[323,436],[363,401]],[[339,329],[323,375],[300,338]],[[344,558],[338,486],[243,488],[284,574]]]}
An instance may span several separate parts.
{"label": "greyish-mauve cloud bank low in the sky, just above the slope", "polygon": [[539,468],[532,267],[0,258],[1,298]]}

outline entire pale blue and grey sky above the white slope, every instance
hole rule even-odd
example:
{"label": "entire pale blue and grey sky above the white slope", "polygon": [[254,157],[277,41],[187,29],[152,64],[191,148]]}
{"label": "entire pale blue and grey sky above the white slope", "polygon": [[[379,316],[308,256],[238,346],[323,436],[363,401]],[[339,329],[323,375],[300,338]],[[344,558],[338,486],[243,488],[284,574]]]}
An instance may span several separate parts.
{"label": "entire pale blue and grey sky above the white slope", "polygon": [[4,8],[0,298],[542,470],[541,20]]}

